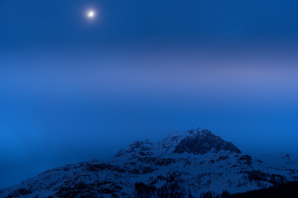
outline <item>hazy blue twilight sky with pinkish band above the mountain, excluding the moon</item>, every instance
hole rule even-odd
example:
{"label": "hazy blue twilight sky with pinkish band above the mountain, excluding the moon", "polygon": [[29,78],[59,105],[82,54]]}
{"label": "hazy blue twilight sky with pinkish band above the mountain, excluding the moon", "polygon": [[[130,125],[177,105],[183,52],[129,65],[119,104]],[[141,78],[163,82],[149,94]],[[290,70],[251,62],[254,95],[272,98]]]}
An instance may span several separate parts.
{"label": "hazy blue twilight sky with pinkish band above the mountain, excluding the moon", "polygon": [[298,155],[297,7],[1,0],[0,188],[197,127]]}

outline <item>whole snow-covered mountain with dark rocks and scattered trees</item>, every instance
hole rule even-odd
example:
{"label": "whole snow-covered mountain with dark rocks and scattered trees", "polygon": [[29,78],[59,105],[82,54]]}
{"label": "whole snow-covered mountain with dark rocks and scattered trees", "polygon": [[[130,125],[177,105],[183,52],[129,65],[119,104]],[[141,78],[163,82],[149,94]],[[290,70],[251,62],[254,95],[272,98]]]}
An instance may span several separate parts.
{"label": "whole snow-covered mountain with dark rocks and scattered trees", "polygon": [[297,181],[297,168],[291,153],[247,155],[198,128],[136,141],[109,160],[47,170],[0,189],[0,197],[200,197]]}

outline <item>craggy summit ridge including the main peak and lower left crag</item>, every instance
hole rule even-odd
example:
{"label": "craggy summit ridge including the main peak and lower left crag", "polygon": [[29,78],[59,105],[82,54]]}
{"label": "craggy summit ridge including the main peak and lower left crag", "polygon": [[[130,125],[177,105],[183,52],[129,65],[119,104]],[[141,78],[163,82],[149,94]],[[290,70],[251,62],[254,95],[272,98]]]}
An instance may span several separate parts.
{"label": "craggy summit ridge including the main peak and lower left crag", "polygon": [[172,132],[161,142],[153,144],[150,140],[135,141],[127,149],[120,150],[114,157],[120,156],[147,156],[155,153],[193,153],[195,155],[208,152],[218,153],[227,151],[229,153],[242,153],[232,142],[227,142],[221,137],[212,134],[207,129],[190,129],[187,132]]}

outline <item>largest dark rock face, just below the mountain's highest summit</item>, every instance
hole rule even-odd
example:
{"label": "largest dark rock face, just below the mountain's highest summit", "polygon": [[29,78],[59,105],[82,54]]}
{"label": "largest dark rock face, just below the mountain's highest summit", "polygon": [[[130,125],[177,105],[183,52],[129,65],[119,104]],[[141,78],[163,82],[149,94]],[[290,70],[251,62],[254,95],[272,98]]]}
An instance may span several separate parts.
{"label": "largest dark rock face, just below the mountain's highest summit", "polygon": [[[192,133],[193,134],[193,133]],[[232,144],[227,142],[221,137],[212,134],[210,131],[204,129],[194,135],[189,135],[182,139],[181,142],[175,147],[173,153],[193,153],[195,155],[205,154],[214,149],[215,153],[219,151],[230,151],[240,154],[241,151]]]}

